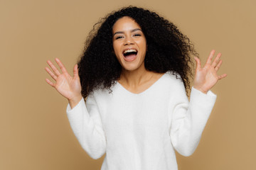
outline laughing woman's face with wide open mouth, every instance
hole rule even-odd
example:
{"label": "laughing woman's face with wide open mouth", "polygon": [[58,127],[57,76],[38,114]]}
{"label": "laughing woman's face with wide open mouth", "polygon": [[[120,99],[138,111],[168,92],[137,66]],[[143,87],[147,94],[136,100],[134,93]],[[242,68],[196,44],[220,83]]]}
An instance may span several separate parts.
{"label": "laughing woman's face with wide open mouth", "polygon": [[112,33],[114,54],[122,68],[127,71],[144,69],[146,38],[139,24],[124,16],[114,23]]}

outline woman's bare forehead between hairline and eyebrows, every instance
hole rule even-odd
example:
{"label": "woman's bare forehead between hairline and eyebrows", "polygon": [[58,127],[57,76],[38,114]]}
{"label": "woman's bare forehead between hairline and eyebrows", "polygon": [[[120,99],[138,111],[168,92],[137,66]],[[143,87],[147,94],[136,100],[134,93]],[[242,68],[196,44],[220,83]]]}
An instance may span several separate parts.
{"label": "woman's bare forehead between hairline and eyebrows", "polygon": [[142,29],[139,24],[136,23],[132,18],[130,18],[129,16],[124,16],[122,18],[119,18],[117,22],[114,23],[112,32],[114,33],[116,31],[129,31],[136,28]]}

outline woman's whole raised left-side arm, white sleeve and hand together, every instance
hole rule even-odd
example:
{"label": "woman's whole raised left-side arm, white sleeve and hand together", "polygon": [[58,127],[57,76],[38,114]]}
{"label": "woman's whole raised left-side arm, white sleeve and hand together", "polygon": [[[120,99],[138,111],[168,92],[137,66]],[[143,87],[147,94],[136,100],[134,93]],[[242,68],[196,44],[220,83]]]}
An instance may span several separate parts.
{"label": "woman's whole raised left-side arm, white sleeve and hand together", "polygon": [[71,77],[58,58],[55,59],[55,62],[57,62],[61,72],[48,60],[47,63],[53,71],[46,67],[46,72],[53,78],[54,83],[49,79],[46,79],[46,82],[68,99],[68,119],[82,148],[93,159],[100,158],[105,153],[106,141],[97,104],[92,96],[88,96],[87,106],[85,106],[85,101],[81,95],[78,64],[75,64],[74,76]]}

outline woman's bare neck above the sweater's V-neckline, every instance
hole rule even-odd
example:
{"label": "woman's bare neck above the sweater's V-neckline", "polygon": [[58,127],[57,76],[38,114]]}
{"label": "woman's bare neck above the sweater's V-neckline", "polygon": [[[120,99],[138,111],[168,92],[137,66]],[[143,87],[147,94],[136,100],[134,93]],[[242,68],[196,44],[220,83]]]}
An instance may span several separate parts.
{"label": "woman's bare neck above the sweater's V-neckline", "polygon": [[145,67],[139,67],[139,69],[132,71],[122,69],[119,83],[126,84],[130,87],[137,87],[149,81],[152,76],[152,72],[147,71]]}

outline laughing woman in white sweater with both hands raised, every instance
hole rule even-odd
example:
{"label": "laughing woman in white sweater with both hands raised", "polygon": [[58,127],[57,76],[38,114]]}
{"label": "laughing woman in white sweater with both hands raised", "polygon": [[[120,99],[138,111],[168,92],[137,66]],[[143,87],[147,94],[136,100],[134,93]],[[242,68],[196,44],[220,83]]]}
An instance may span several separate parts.
{"label": "laughing woman in white sweater with both hands raised", "polygon": [[215,103],[210,89],[227,76],[218,76],[214,53],[203,68],[195,57],[188,102],[193,45],[173,23],[129,6],[91,32],[73,77],[56,58],[62,73],[48,61],[55,83],[46,81],[68,98],[71,128],[87,154],[107,153],[102,169],[178,169],[174,149],[194,152]]}

